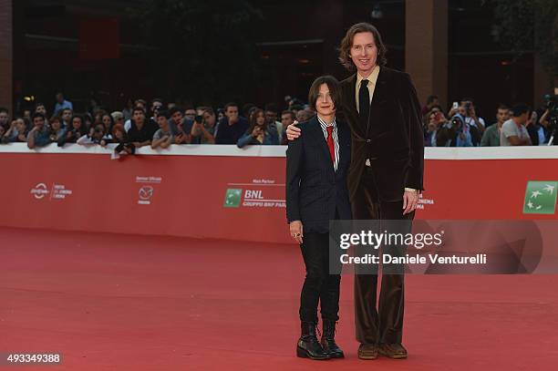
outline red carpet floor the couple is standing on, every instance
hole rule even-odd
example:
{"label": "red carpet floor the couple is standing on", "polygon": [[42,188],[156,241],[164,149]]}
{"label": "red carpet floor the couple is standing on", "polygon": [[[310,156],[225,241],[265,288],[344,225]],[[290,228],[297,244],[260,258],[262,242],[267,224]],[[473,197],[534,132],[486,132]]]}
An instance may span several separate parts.
{"label": "red carpet floor the couple is standing on", "polygon": [[[285,231],[286,232],[286,231]],[[294,356],[298,247],[0,228],[0,352],[58,351],[52,370],[551,370],[558,276],[408,276],[407,360]],[[12,369],[13,367],[5,367]]]}

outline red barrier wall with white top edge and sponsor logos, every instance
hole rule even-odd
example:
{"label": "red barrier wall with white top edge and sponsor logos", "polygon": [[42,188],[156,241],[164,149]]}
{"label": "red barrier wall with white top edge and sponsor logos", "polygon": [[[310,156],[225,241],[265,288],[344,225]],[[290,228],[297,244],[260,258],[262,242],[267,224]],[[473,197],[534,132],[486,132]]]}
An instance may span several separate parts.
{"label": "red barrier wall with white top edge and sponsor logos", "polygon": [[[291,242],[284,150],[173,146],[110,160],[109,149],[2,146],[0,225]],[[419,219],[558,219],[555,197],[539,210],[525,201],[558,182],[558,149],[428,149],[426,159]]]}

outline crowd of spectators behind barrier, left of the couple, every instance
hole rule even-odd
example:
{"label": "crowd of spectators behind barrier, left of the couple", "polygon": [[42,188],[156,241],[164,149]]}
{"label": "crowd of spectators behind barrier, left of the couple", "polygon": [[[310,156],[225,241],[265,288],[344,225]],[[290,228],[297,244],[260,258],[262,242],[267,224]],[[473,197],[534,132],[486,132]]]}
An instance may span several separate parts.
{"label": "crowd of spectators behind barrier, left of the couple", "polygon": [[169,149],[171,144],[233,144],[239,148],[281,145],[286,144],[284,131],[288,125],[315,114],[296,99],[285,99],[281,111],[274,104],[241,108],[233,102],[220,109],[181,108],[154,98],[149,107],[145,100],[138,99],[119,111],[95,106],[85,113],[74,112],[62,93],[56,99],[50,116],[43,103],[11,120],[8,110],[0,108],[1,142],[26,142],[29,149],[50,143],[59,147],[67,143],[103,147],[115,143],[118,154],[133,154],[145,146]]}

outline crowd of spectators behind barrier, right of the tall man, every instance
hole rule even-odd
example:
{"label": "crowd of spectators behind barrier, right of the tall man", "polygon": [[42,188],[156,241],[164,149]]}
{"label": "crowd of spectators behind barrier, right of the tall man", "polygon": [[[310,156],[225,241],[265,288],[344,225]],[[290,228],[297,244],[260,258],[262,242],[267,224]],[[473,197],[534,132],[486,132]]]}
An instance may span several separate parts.
{"label": "crowd of spectators behind barrier, right of the tall man", "polygon": [[[553,135],[550,108],[532,110],[524,103],[501,104],[493,120],[477,115],[472,98],[453,102],[447,114],[436,96],[422,108],[424,143],[427,147],[544,146]],[[554,143],[555,144],[555,143]]]}

